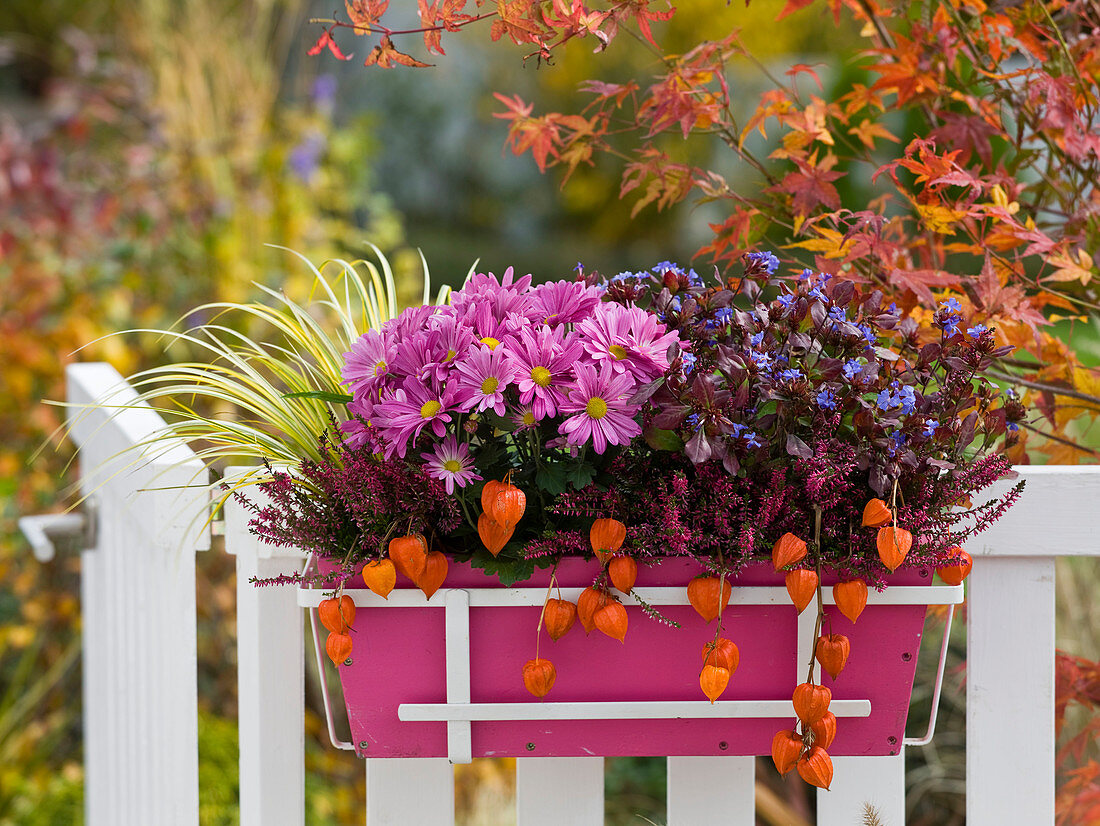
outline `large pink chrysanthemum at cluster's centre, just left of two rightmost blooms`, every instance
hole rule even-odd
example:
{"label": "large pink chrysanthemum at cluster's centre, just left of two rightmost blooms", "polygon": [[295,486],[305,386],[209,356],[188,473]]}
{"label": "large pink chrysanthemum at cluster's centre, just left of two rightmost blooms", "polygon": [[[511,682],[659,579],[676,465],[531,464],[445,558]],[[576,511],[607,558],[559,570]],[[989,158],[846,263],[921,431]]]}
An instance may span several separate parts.
{"label": "large pink chrysanthemum at cluster's centre, just left of two rightmost blooms", "polygon": [[565,401],[573,365],[584,354],[575,333],[564,328],[525,327],[508,351],[516,371],[519,401],[531,405],[536,419],[553,416]]}

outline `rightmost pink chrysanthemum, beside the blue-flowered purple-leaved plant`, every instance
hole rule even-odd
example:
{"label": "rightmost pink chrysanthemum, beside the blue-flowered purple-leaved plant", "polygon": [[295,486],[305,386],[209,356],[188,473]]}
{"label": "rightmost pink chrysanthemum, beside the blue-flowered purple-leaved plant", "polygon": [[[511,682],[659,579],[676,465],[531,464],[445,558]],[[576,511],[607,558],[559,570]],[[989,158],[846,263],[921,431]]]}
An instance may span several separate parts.
{"label": "rightmost pink chrysanthemum, beside the blue-flowered purple-leaved plant", "polygon": [[639,384],[648,384],[669,368],[668,350],[679,342],[675,331],[640,307],[605,302],[591,318],[576,326],[587,353],[616,373],[629,373]]}

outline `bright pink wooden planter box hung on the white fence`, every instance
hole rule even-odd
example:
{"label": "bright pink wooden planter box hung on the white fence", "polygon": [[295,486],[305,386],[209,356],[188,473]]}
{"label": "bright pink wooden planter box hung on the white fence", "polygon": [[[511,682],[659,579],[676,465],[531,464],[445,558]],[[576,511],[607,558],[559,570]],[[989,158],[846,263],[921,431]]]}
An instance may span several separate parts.
{"label": "bright pink wooden planter box hung on the white fence", "polygon": [[[575,601],[578,590],[592,584],[597,570],[595,561],[563,561],[557,575],[563,596]],[[667,597],[675,599],[700,570],[697,563],[683,559],[644,565],[636,587],[644,593],[653,587],[675,588],[664,592]],[[734,582],[734,599],[724,614],[724,636],[740,649],[740,664],[717,706],[711,706],[698,687],[700,652],[714,637],[714,624],[704,624],[686,604],[662,605],[661,614],[682,626],[670,628],[645,616],[628,596],[623,597],[629,617],[625,643],[600,631],[585,637],[580,621],[558,641],[542,631],[539,656],[553,662],[558,679],[543,701],[534,698],[524,687],[520,672],[522,664],[535,657],[535,629],[549,576],[549,571],[538,571],[531,580],[517,584],[517,588],[529,588],[526,593],[531,604],[524,607],[479,607],[479,602],[498,597],[501,585],[480,570],[453,563],[443,590],[431,604],[426,604],[424,595],[411,588],[398,588],[388,603],[365,590],[346,591],[359,606],[353,635],[355,648],[352,664],[339,670],[356,752],[372,758],[450,756],[457,762],[470,756],[768,755],[776,731],[793,726],[791,692],[805,680],[813,629],[811,626],[801,634],[806,639],[796,661],[799,618],[783,587],[783,576],[770,565],[752,566]],[[931,581],[931,571],[912,570],[895,574],[891,584],[930,585]],[[826,577],[826,585],[832,582]],[[403,720],[399,715],[407,718],[414,713],[409,711],[410,704],[448,703],[444,604],[449,598],[447,590],[451,588],[462,588],[471,595],[469,702],[472,704],[522,704],[522,713],[528,716],[556,714],[553,708],[561,703],[686,701],[692,705],[670,709],[666,718]],[[889,598],[891,592],[909,594],[903,599],[908,603],[919,603],[923,593],[932,594],[925,590],[888,588],[883,596]],[[825,594],[828,597],[828,588]],[[410,605],[418,607],[395,604],[410,596]],[[463,596],[458,595],[460,603]],[[316,593],[305,592],[300,602],[310,604],[310,597],[316,605]],[[844,634],[851,640],[851,657],[844,672],[836,681],[824,673],[821,678],[833,691],[838,717],[838,734],[829,749],[834,756],[897,753],[904,736],[926,606],[875,604],[879,598],[871,591],[871,599],[856,625],[835,606],[825,608],[823,632]],[[741,604],[761,602],[769,604]],[[813,612],[811,604],[803,614],[803,628],[807,620],[812,621]],[[460,609],[452,616],[452,621],[459,623],[452,627],[459,631],[464,614]],[[465,650],[464,642],[452,640],[451,646],[452,651]],[[451,703],[462,703],[463,658],[453,653],[452,657],[455,673]],[[756,704],[755,708],[746,703],[723,705],[728,701],[772,703]],[[866,702],[838,701],[867,701],[869,714]],[[399,712],[403,705],[406,708]],[[686,716],[684,708],[690,714],[712,716],[672,717]],[[569,713],[571,708],[564,711]],[[842,716],[842,712],[862,716]],[[619,713],[620,709],[612,709],[608,716]],[[664,712],[654,713],[647,706],[641,713]],[[725,716],[746,713],[771,716]]]}

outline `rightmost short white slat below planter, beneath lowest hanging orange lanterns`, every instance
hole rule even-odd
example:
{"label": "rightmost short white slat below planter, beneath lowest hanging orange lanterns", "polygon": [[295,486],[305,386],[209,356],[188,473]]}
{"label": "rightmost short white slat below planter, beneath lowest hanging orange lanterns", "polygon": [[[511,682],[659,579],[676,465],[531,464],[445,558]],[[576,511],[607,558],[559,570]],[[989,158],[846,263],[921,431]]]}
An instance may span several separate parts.
{"label": "rightmost short white slat below planter, beneath lowest hanging orange lanterns", "polygon": [[882,826],[905,826],[904,748],[893,757],[833,758],[833,785],[817,790],[817,826],[864,823],[868,805]]}

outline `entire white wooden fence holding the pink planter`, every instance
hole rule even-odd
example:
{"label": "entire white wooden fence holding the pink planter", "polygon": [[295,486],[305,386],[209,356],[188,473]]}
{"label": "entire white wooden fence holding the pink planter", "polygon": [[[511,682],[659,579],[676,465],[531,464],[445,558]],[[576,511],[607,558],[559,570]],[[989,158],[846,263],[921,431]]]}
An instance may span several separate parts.
{"label": "entire white wooden fence holding the pink planter", "polygon": [[[89,826],[198,823],[194,551],[209,547],[201,465],[186,445],[142,449],[160,418],[102,364],[68,370],[84,489],[98,536],[82,553],[86,810]],[[135,447],[138,445],[138,447]],[[1100,555],[1088,518],[1100,466],[1019,469],[1024,497],[969,544],[967,822],[1054,823],[1055,558]],[[41,526],[37,552],[46,554]],[[304,639],[294,588],[254,588],[299,554],[262,544],[232,503],[237,557],[241,824],[304,822]],[[446,759],[367,759],[369,826],[454,819]],[[836,758],[822,826],[904,823],[904,753]],[[603,821],[603,758],[516,761],[519,826]],[[755,823],[755,759],[668,758],[670,826]]]}

